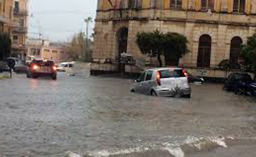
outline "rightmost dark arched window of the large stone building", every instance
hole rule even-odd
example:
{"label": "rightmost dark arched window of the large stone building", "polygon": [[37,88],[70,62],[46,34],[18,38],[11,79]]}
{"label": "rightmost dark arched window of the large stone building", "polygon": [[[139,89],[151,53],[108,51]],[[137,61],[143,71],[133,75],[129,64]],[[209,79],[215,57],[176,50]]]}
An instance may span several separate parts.
{"label": "rightmost dark arched window of the large stone building", "polygon": [[242,39],[240,37],[234,37],[230,44],[230,68],[239,69],[238,59],[240,58]]}

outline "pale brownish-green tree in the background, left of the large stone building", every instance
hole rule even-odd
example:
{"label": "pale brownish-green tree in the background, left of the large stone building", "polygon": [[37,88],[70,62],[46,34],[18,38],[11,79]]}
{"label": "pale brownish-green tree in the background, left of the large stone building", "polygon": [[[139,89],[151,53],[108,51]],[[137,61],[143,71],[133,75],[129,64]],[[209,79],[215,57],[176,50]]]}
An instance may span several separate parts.
{"label": "pale brownish-green tree in the background, left of the large stone building", "polygon": [[[87,60],[90,61],[91,58],[91,50],[90,50],[90,45],[92,45],[92,41],[88,39],[88,51],[84,50],[84,45],[86,43],[86,38],[84,36],[84,33],[80,32],[73,36],[71,42],[66,48],[66,53],[67,53],[67,58],[70,60]],[[83,58],[83,56],[86,56],[86,58]]]}

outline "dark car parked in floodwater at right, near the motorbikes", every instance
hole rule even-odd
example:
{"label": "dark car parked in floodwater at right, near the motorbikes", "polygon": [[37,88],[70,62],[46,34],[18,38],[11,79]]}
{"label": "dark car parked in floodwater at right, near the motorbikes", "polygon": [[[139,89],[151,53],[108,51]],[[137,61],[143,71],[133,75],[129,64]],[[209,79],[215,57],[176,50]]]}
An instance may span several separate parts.
{"label": "dark car parked in floodwater at right, near the motorbikes", "polygon": [[246,72],[233,72],[228,76],[228,79],[225,80],[224,90],[228,91],[238,91],[238,87],[241,87],[242,84],[252,83],[252,77]]}

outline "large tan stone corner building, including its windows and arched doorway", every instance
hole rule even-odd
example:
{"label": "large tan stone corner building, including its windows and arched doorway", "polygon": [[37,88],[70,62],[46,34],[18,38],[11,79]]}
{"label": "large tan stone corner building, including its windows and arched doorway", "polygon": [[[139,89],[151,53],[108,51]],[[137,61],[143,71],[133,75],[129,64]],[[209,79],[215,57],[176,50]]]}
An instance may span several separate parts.
{"label": "large tan stone corner building, including its windows and arched doorway", "polygon": [[190,53],[179,62],[212,75],[224,59],[238,63],[240,45],[256,31],[256,0],[98,0],[92,70],[120,70],[122,53],[154,65],[140,53],[136,36],[156,29],[186,36]]}

